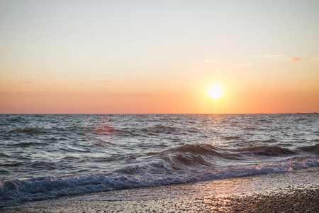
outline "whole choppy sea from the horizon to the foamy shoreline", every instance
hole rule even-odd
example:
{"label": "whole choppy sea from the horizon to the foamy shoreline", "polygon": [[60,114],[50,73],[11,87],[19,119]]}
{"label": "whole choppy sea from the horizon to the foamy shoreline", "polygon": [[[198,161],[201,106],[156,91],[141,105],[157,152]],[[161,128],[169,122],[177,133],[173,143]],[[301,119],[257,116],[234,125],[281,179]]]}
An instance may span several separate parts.
{"label": "whole choppy sea from the horizon to the foamy shoreline", "polygon": [[0,207],[319,166],[319,114],[0,115]]}

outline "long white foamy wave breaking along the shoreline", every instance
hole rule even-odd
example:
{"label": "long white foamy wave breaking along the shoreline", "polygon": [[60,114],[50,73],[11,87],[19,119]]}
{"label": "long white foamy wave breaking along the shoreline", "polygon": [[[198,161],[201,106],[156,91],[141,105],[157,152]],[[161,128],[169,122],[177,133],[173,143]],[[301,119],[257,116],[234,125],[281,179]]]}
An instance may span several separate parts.
{"label": "long white foamy wave breaking along the shoreline", "polygon": [[106,175],[79,177],[43,177],[28,180],[0,181],[0,207],[20,202],[50,199],[80,193],[103,192],[133,187],[172,185],[223,178],[240,178],[269,173],[289,173],[293,170],[318,167],[318,156],[300,156],[290,161],[259,165],[242,165],[231,168],[198,170],[194,173],[176,174],[166,163],[133,165]]}

